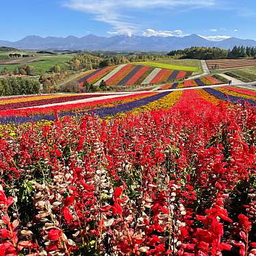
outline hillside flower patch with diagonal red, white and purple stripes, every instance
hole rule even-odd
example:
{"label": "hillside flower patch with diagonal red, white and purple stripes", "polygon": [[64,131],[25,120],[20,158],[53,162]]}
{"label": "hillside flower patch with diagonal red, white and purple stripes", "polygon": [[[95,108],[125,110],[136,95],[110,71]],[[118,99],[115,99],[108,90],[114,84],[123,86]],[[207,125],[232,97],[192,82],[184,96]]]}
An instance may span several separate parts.
{"label": "hillside flower patch with diagonal red, white and purple stripes", "polygon": [[172,71],[144,65],[122,64],[92,71],[80,79],[79,83],[82,84],[87,80],[89,83],[99,86],[101,80],[104,80],[108,86],[162,84],[190,75],[192,75],[191,71]]}

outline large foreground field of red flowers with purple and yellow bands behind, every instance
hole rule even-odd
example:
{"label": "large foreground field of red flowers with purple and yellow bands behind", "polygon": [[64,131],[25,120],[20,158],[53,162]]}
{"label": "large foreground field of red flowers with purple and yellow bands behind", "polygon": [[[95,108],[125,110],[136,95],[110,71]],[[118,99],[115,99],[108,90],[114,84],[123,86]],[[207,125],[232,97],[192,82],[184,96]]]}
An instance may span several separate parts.
{"label": "large foreground field of red flowers with purple and yellow bands behind", "polygon": [[255,100],[221,87],[1,110],[0,255],[255,255]]}

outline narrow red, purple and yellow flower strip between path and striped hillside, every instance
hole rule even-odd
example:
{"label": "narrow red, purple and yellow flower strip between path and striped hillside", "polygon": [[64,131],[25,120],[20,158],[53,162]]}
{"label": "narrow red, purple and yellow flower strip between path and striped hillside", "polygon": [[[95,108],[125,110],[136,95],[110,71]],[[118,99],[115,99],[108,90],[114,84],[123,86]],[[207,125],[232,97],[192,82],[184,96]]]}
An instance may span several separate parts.
{"label": "narrow red, purple and yellow flower strip between path and striped hillside", "polygon": [[198,86],[214,86],[216,84],[224,84],[224,83],[214,77],[202,77],[200,79],[185,80],[182,83],[164,84],[164,86],[161,86],[158,90],[188,88],[188,87],[198,87]]}

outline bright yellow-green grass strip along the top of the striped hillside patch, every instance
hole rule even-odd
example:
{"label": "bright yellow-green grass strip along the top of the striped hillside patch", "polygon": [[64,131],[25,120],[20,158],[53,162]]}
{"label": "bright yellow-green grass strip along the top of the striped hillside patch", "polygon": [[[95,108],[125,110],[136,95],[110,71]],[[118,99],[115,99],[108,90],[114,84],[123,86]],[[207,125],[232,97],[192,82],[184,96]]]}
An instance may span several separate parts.
{"label": "bright yellow-green grass strip along the top of the striped hillside patch", "polygon": [[[162,60],[157,62],[136,62],[136,64],[146,65],[146,66],[153,66],[155,68],[166,68],[172,69],[175,71],[192,71],[192,72],[199,72],[199,66],[183,66],[185,62],[173,62],[174,60]],[[180,65],[181,64],[181,65]]]}

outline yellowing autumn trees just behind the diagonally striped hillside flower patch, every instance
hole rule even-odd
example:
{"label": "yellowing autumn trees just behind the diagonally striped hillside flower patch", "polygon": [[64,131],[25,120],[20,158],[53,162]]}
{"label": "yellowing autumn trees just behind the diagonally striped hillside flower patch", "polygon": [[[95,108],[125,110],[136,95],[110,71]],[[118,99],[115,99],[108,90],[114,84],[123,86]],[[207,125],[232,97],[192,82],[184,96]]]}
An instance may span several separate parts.
{"label": "yellowing autumn trees just behind the diagonally striped hillside flower patch", "polygon": [[88,53],[81,53],[75,55],[69,62],[72,69],[75,71],[81,71],[83,69],[90,70],[93,68],[103,68],[105,66],[114,66],[125,64],[129,62],[145,62],[152,60],[168,60],[171,57],[165,54],[129,54],[129,55],[105,55],[96,54],[91,55]]}

